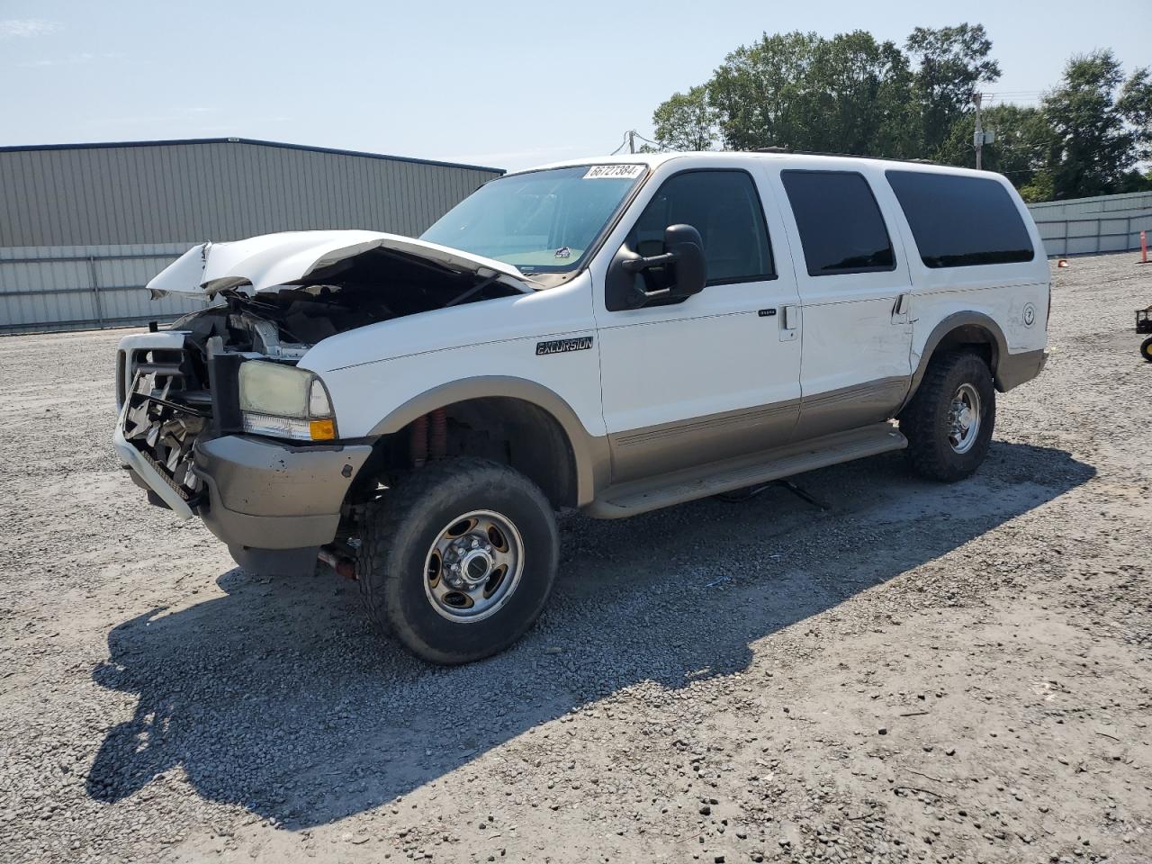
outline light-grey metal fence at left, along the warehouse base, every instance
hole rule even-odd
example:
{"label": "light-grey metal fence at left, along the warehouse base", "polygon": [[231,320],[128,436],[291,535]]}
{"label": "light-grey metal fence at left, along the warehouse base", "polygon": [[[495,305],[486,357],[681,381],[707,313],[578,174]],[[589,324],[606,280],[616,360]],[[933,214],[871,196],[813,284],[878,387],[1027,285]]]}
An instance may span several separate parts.
{"label": "light-grey metal fence at left, along the warehouse base", "polygon": [[195,243],[0,249],[0,333],[170,321],[195,296],[151,300],[144,286]]}

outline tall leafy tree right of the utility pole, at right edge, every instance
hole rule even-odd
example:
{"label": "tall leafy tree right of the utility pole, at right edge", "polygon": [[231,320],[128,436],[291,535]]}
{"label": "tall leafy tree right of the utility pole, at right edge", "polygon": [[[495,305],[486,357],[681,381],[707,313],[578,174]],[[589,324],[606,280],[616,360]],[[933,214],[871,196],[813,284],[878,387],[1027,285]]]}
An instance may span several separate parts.
{"label": "tall leafy tree right of the utility pole, at right edge", "polygon": [[1046,93],[1043,105],[1053,129],[1048,164],[1054,197],[1146,188],[1146,180],[1134,170],[1147,157],[1152,139],[1152,84],[1146,69],[1137,69],[1124,82],[1111,51],[1077,54],[1064,67],[1061,86]]}

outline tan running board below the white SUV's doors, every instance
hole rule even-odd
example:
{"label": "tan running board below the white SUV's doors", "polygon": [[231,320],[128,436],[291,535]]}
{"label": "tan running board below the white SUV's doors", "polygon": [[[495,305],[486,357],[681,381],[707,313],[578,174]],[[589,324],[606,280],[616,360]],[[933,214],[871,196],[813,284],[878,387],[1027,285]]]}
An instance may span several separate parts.
{"label": "tan running board below the white SUV's doors", "polygon": [[622,518],[669,505],[695,501],[721,492],[779,480],[817,468],[876,456],[908,446],[895,426],[873,426],[836,432],[772,450],[712,462],[644,480],[609,486],[585,511],[597,518]]}

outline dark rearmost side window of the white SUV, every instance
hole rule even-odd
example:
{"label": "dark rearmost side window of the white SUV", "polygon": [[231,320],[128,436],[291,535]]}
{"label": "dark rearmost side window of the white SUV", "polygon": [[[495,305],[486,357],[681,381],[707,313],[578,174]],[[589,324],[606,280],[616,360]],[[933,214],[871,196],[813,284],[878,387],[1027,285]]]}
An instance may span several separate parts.
{"label": "dark rearmost side window of the white SUV", "polygon": [[886,175],[925,266],[1011,264],[1034,257],[1016,203],[995,180],[916,170]]}

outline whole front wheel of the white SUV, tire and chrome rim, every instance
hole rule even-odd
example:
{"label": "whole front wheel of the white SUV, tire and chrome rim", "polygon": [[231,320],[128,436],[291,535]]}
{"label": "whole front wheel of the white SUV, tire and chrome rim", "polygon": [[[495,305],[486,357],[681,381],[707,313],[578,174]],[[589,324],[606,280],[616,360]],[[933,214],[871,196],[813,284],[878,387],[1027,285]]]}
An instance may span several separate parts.
{"label": "whole front wheel of the white SUV, tire and chrome rim", "polygon": [[456,458],[412,471],[367,507],[356,574],[378,624],[417,657],[458,665],[532,626],[558,559],[555,516],[536,484]]}

